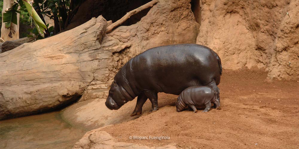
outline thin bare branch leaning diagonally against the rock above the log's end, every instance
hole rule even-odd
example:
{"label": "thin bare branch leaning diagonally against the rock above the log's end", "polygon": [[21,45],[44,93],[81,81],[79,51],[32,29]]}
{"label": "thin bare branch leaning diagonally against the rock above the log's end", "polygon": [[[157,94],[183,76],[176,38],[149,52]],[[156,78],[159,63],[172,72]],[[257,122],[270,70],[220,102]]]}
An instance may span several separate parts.
{"label": "thin bare branch leaning diagonally against the rock above the log's end", "polygon": [[115,27],[117,27],[118,25],[122,24],[123,22],[125,22],[128,18],[130,18],[132,15],[135,15],[136,13],[139,13],[140,11],[147,9],[149,7],[152,7],[154,4],[156,4],[158,2],[158,0],[153,0],[150,1],[130,12],[128,12],[126,15],[124,15],[122,18],[120,18],[118,21],[114,22],[113,24],[109,25],[107,27],[106,33],[111,32]]}

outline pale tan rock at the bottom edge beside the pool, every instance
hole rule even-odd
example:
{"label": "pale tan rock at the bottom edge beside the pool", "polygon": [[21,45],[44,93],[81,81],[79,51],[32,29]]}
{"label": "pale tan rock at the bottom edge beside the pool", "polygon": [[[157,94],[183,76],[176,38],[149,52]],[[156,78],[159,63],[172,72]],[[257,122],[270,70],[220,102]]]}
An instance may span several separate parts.
{"label": "pale tan rock at the bottom edge beside the pool", "polygon": [[[87,132],[82,139],[74,145],[73,149],[154,149],[144,145],[137,145],[134,143],[117,142],[106,131],[94,129]],[[176,149],[175,144],[165,145],[155,149]]]}

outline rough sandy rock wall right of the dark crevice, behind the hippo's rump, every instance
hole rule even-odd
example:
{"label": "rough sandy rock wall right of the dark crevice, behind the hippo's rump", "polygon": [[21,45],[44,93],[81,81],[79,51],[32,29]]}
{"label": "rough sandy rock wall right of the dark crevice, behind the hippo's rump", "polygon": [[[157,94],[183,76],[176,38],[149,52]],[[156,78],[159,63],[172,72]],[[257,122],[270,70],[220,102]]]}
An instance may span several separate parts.
{"label": "rough sandy rock wall right of the dark crevice, behind the hippo's rump", "polygon": [[271,79],[298,79],[298,0],[200,2],[196,43],[217,52],[223,68],[257,66]]}

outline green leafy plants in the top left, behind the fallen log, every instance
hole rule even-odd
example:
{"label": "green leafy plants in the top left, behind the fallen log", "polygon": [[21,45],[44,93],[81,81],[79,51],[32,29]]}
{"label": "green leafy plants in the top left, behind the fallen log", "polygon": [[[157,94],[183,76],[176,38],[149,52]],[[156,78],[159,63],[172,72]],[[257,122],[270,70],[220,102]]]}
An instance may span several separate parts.
{"label": "green leafy plants in the top left, behind the fallen log", "polygon": [[[74,15],[77,13],[80,4],[84,0],[33,0],[33,4],[28,0],[15,0],[12,8],[5,13],[6,28],[11,22],[17,24],[16,13],[20,13],[20,23],[25,25],[34,24],[35,28],[30,30],[37,39],[45,38],[64,30]],[[3,1],[1,1],[3,5]],[[21,6],[17,10],[18,6]],[[2,7],[1,7],[2,8]],[[54,20],[55,27],[45,25],[44,17],[47,15]],[[45,34],[44,34],[45,33]],[[32,36],[32,35],[28,35]]]}

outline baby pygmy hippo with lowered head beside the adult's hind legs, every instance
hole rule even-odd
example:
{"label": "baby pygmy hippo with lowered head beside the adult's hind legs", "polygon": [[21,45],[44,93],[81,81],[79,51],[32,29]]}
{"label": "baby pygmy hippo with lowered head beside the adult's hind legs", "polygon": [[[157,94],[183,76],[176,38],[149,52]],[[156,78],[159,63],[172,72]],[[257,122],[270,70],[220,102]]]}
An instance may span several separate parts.
{"label": "baby pygmy hippo with lowered head beside the adult's hind legs", "polygon": [[208,112],[211,108],[211,103],[216,105],[216,109],[221,109],[216,91],[209,86],[191,86],[179,95],[178,100],[176,100],[176,111],[183,111],[189,106],[193,109],[194,113],[197,112],[196,107],[205,107],[205,110],[202,112]]}

